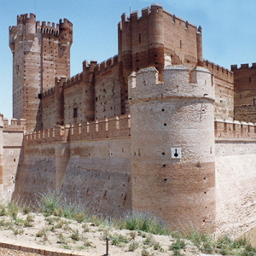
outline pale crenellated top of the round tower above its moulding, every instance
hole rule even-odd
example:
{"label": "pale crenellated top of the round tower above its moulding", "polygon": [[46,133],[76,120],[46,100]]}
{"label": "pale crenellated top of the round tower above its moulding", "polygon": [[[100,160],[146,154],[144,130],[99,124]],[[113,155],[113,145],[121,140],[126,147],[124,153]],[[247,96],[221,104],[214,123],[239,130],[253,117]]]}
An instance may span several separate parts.
{"label": "pale crenellated top of the round tower above its moulding", "polygon": [[147,67],[137,74],[131,73],[128,81],[131,101],[165,97],[196,97],[214,101],[215,98],[212,73],[204,67],[189,70],[182,65],[167,66],[163,82],[160,82],[155,67]]}

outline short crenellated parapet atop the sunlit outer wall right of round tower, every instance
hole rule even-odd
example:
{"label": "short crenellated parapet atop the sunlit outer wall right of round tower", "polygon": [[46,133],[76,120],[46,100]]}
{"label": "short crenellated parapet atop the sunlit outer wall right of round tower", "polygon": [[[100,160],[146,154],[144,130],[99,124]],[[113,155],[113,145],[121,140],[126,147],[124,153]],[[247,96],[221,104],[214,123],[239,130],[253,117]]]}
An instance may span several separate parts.
{"label": "short crenellated parapet atop the sunlit outer wall right of round tower", "polygon": [[256,124],[215,119],[215,141],[256,141]]}

